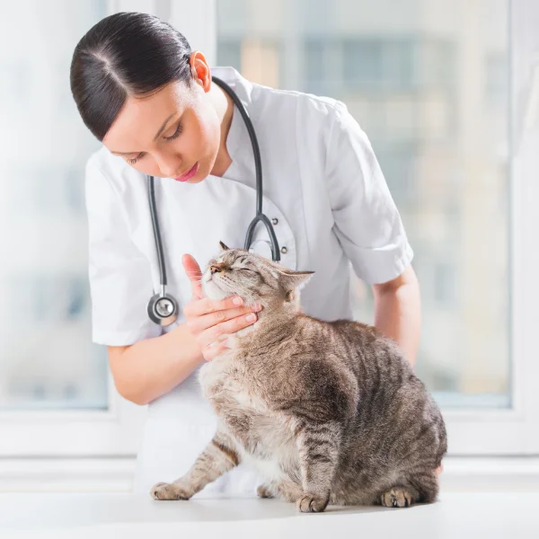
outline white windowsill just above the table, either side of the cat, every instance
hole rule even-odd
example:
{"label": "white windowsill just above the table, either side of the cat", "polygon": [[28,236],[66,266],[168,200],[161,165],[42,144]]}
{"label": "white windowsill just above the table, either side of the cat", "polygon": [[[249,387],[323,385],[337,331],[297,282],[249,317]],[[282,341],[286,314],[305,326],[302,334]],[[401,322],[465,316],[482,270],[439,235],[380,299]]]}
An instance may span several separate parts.
{"label": "white windowsill just above the table, either side of the cat", "polygon": [[[0,491],[129,492],[135,458],[3,458]],[[441,491],[539,491],[539,456],[446,457]]]}

